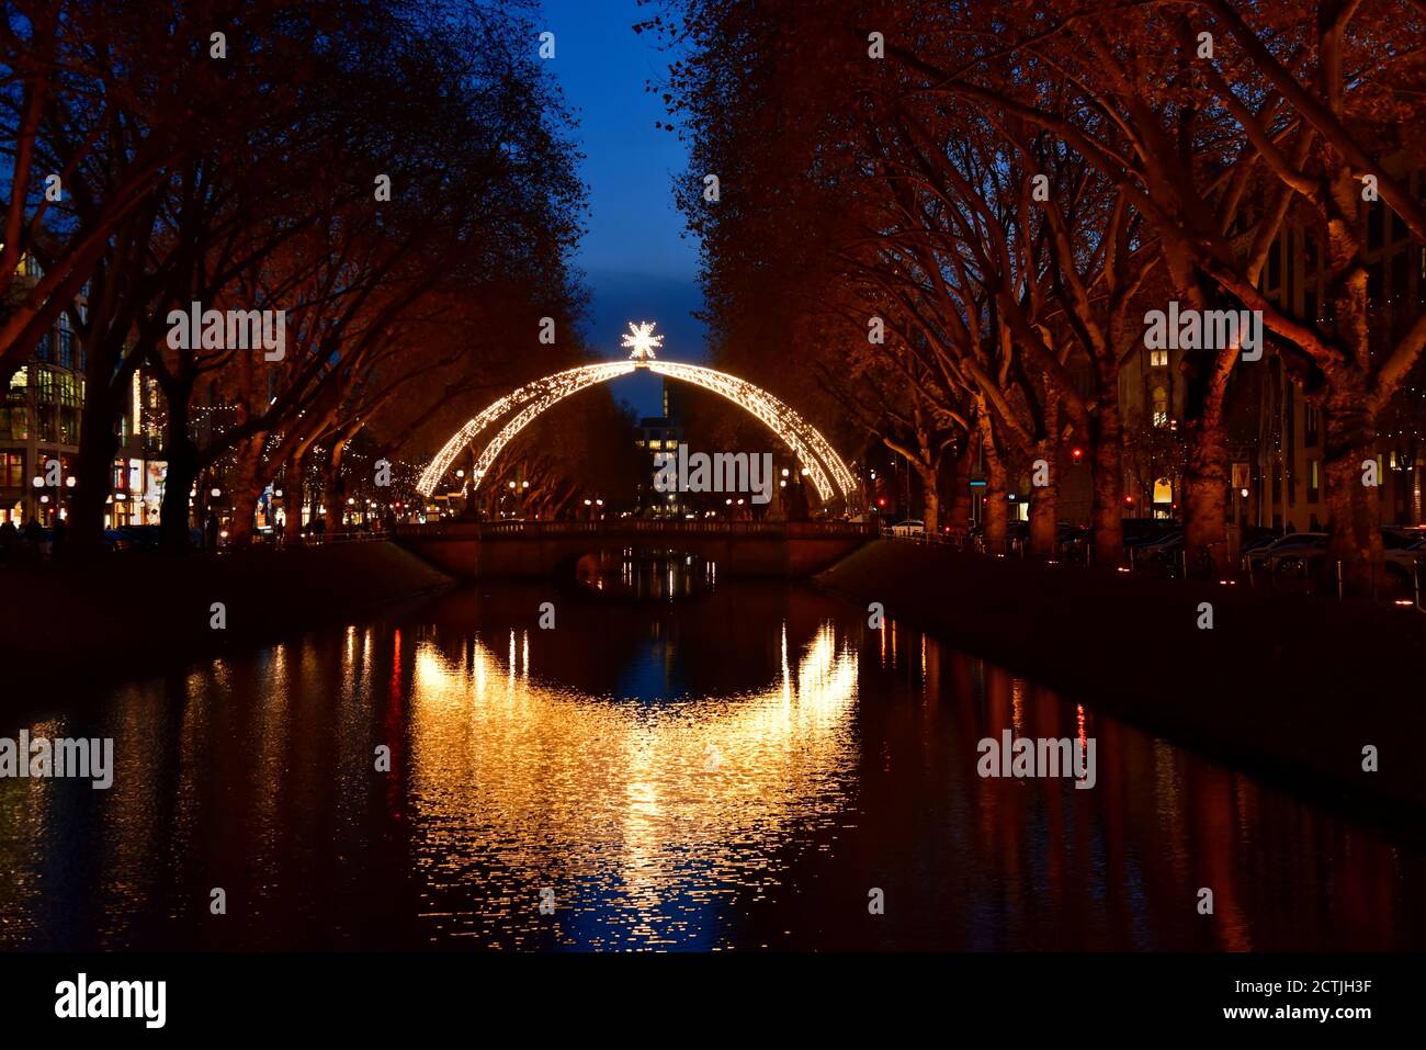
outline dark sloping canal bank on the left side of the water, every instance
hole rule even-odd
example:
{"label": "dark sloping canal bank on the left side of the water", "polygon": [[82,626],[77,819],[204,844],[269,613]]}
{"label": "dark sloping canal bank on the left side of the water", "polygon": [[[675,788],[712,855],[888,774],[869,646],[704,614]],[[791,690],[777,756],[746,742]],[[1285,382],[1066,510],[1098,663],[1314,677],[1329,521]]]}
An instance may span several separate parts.
{"label": "dark sloping canal bank on the left side of the water", "polygon": [[[41,681],[127,676],[329,625],[449,582],[386,542],[6,565],[0,661]],[[224,606],[221,631],[212,626],[214,602]]]}

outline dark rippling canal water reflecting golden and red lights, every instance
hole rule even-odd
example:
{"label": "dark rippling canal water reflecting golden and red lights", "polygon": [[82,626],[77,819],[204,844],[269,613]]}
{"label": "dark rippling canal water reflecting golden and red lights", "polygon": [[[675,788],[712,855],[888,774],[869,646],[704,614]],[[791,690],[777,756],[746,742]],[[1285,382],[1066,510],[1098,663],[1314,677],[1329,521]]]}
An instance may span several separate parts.
{"label": "dark rippling canal water reflecting golden and red lights", "polygon": [[[811,588],[605,569],[0,726],[116,748],[0,780],[0,949],[1426,947],[1419,839]],[[1094,786],[983,779],[1005,729]]]}

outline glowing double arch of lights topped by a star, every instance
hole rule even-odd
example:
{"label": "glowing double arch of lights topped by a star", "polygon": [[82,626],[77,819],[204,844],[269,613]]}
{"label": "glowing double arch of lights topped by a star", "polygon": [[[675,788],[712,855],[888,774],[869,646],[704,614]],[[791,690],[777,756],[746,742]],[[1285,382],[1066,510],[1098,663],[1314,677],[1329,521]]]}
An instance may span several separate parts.
{"label": "glowing double arch of lights topped by a star", "polygon": [[[649,338],[647,331],[643,331],[642,337],[637,335],[639,330],[635,331],[636,338]],[[739,379],[736,375],[729,375],[727,372],[700,365],[679,364],[676,361],[655,361],[652,347],[647,342],[630,344],[627,340],[629,337],[626,337],[626,345],[635,347],[635,354],[627,361],[582,365],[563,372],[555,372],[553,375],[546,375],[543,379],[526,384],[489,405],[456,431],[445,447],[436,452],[435,458],[432,458],[426,469],[421,474],[416,489],[429,498],[446,475],[446,471],[451,469],[461,449],[475,442],[485,431],[503,419],[503,425],[499,427],[495,437],[489,439],[475,461],[475,476],[471,484],[472,491],[479,488],[496,457],[515,439],[515,435],[533,422],[542,412],[572,394],[578,394],[597,382],[629,375],[636,368],[646,368],[670,379],[692,382],[696,387],[712,391],[760,419],[793,451],[793,455],[797,457],[797,461],[801,464],[823,502],[830,502],[836,495],[840,495],[843,499],[851,498],[857,482],[851,476],[851,471],[841,461],[841,457],[837,455],[836,449],[833,449],[816,427],[797,415],[783,401],[760,387],[754,387],[746,379]]]}

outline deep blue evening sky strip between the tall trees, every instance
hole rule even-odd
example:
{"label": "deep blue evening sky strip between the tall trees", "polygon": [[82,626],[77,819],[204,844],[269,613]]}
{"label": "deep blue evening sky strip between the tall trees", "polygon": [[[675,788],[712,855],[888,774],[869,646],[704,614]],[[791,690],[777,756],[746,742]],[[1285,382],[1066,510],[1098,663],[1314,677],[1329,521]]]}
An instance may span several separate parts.
{"label": "deep blue evening sky strip between the tall trees", "polygon": [[[590,291],[590,341],[602,355],[625,357],[619,335],[627,321],[656,321],[663,355],[704,357],[699,308],[697,244],[682,237],[673,177],[687,165],[677,136],[655,127],[667,113],[649,80],[662,81],[667,56],[632,26],[653,9],[635,0],[543,0],[536,31],[555,34],[555,57],[543,67],[559,81],[579,121],[576,138],[589,185],[588,234],[575,258]],[[538,44],[536,44],[538,46]],[[659,381],[619,381],[615,394],[640,415],[659,411]]]}

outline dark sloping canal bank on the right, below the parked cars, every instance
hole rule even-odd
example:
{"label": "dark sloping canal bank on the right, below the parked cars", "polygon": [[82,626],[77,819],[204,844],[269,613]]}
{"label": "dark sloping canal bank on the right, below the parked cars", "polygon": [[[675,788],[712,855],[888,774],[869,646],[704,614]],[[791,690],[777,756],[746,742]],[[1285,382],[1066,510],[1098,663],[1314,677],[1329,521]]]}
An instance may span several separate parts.
{"label": "dark sloping canal bank on the right, below the parked cars", "polygon": [[[1383,817],[1426,806],[1426,616],[877,541],[817,581],[1092,709]],[[1199,602],[1214,626],[1198,628]],[[1362,769],[1375,745],[1380,772]]]}

